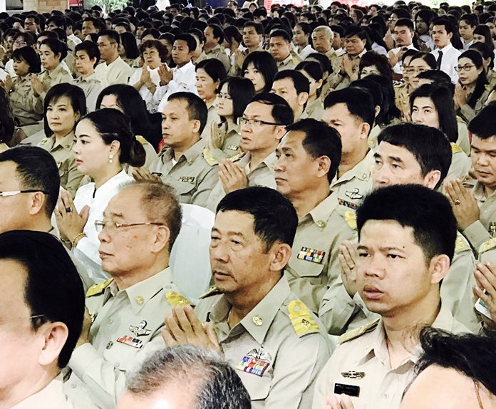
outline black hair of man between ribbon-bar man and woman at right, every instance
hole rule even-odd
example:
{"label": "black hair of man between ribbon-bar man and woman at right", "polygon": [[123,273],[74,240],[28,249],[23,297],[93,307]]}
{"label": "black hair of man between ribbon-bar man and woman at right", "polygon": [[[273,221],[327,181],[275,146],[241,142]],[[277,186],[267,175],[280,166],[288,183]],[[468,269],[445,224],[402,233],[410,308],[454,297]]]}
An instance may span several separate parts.
{"label": "black hair of man between ribbon-bar man and woman at right", "polygon": [[368,123],[371,128],[373,127],[373,121],[376,117],[376,105],[373,105],[372,95],[368,91],[358,88],[336,90],[326,96],[324,108],[331,108],[331,106],[339,103],[346,104],[351,115],[355,115],[363,122]]}

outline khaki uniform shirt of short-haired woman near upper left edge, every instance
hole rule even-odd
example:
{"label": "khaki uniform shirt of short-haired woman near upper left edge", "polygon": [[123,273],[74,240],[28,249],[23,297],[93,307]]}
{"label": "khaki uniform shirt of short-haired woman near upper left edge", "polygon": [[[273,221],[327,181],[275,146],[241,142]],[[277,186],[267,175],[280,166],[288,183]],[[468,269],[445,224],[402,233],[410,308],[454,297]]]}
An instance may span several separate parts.
{"label": "khaki uniform shirt of short-haired woman near upper left edge", "polygon": [[31,125],[43,119],[43,103],[31,87],[31,74],[14,78],[14,90],[9,94],[12,113],[19,126]]}

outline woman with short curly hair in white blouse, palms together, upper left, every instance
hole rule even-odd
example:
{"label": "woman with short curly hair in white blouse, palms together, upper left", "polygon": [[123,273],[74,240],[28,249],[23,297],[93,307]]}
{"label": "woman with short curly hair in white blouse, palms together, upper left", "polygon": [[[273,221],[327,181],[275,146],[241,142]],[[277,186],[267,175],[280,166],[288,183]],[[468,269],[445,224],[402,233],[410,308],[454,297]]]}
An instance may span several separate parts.
{"label": "woman with short curly hair in white blouse, palms together, upper left", "polygon": [[159,40],[147,40],[140,44],[140,56],[143,67],[138,68],[131,76],[129,85],[140,92],[148,112],[156,113],[158,103],[153,100],[153,94],[160,84],[158,68],[165,63],[167,48]]}

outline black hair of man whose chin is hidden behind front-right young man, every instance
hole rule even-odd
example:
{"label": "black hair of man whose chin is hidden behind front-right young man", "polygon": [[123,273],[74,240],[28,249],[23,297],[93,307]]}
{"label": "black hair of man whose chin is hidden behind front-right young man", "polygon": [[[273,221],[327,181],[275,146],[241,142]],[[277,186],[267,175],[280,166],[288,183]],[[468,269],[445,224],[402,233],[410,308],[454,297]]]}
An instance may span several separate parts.
{"label": "black hair of man whose chin is hidden behind front-right young man", "polygon": [[379,134],[378,143],[404,147],[420,165],[422,176],[432,170],[439,170],[439,187],[450,169],[452,153],[450,141],[440,130],[419,123],[398,123],[384,128]]}

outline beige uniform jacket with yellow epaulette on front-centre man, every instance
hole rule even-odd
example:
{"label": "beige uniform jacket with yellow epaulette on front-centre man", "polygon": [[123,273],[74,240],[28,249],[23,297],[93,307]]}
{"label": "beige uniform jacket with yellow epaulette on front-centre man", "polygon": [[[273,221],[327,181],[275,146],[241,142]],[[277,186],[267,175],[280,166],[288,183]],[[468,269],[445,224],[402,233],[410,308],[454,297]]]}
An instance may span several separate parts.
{"label": "beige uniform jacket with yellow epaulette on front-centre man", "polygon": [[[205,315],[202,303],[215,304]],[[234,328],[223,295],[200,300],[200,319],[214,323],[227,361],[236,368],[253,409],[310,408],[316,377],[331,350],[319,319],[291,293],[284,276]],[[201,311],[204,311],[203,313]],[[320,328],[319,328],[320,327]]]}

